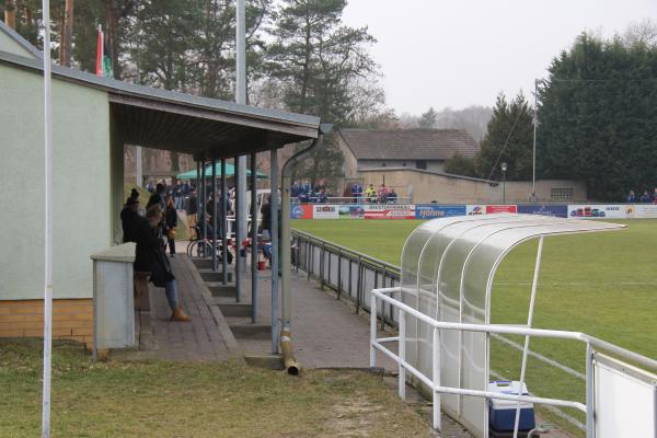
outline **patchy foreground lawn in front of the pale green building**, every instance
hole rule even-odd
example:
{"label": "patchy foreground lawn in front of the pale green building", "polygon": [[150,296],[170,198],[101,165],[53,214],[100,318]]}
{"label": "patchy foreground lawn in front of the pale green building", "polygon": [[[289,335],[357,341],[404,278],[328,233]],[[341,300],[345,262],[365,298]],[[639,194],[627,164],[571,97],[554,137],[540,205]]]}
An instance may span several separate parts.
{"label": "patchy foreground lawn in front of the pale green building", "polygon": [[[41,342],[0,341],[0,437],[41,430]],[[380,377],[240,365],[111,361],[55,343],[51,436],[429,437]],[[389,415],[394,412],[395,416]]]}

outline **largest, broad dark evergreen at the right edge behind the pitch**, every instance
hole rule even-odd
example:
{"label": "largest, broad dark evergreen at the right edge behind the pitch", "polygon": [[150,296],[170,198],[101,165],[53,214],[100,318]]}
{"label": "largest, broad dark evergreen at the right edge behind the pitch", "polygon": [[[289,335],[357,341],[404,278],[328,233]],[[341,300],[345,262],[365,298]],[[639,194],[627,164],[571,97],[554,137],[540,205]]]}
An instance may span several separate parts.
{"label": "largest, broad dark evergreen at the right edge behind the pitch", "polygon": [[654,45],[580,35],[539,89],[539,175],[585,180],[601,200],[657,185],[656,78]]}

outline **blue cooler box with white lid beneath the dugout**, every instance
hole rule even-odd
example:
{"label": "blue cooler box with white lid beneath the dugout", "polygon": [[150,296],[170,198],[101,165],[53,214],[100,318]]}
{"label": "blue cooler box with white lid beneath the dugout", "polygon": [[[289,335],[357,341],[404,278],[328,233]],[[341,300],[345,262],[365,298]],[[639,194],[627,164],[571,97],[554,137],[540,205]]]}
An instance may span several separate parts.
{"label": "blue cooler box with white lid beneath the dugout", "polygon": [[[496,381],[488,383],[488,391],[503,394],[518,394],[520,382]],[[527,385],[522,384],[522,395],[529,395]],[[516,408],[518,402],[511,400],[488,401],[488,424],[496,431],[512,431],[516,423]],[[519,430],[531,430],[535,427],[533,403],[520,403],[520,425]]]}

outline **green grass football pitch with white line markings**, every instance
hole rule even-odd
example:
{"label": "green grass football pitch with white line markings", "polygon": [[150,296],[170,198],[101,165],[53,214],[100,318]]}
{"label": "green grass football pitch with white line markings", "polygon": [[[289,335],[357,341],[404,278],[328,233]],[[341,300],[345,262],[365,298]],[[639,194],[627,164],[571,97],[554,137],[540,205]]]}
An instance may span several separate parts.
{"label": "green grass football pitch with white line markings", "polygon": [[[534,326],[585,332],[655,358],[657,221],[614,222],[625,223],[627,229],[545,239]],[[292,227],[399,265],[403,243],[419,223],[296,220]],[[493,285],[493,323],[527,323],[537,246],[538,241],[518,246],[500,265]],[[585,371],[580,344],[532,339],[530,348]],[[495,371],[519,378],[520,351],[494,342],[491,355]],[[532,358],[528,361],[527,382],[530,391],[540,395],[584,401],[583,381]]]}

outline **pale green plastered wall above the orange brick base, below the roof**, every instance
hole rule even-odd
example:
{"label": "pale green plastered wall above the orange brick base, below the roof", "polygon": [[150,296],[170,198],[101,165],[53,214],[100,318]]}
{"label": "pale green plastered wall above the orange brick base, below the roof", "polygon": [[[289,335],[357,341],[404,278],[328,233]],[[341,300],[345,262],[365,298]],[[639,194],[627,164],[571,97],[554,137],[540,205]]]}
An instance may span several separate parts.
{"label": "pale green plastered wall above the orange brick base, below the roof", "polygon": [[[90,254],[112,243],[103,91],[53,81],[54,297],[92,296]],[[43,298],[43,77],[0,65],[0,299]]]}

